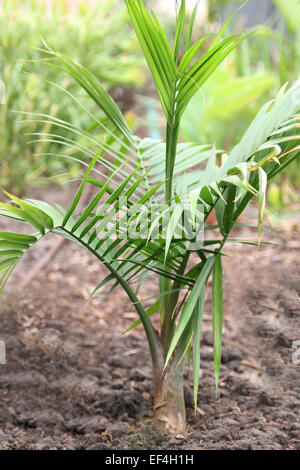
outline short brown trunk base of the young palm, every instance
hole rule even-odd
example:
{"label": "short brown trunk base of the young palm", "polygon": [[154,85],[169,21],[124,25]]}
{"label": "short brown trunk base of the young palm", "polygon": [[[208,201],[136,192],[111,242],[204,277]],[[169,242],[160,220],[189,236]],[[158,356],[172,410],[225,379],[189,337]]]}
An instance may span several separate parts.
{"label": "short brown trunk base of the young palm", "polygon": [[174,362],[163,371],[154,369],[154,424],[161,429],[181,434],[186,428],[183,393],[183,366]]}

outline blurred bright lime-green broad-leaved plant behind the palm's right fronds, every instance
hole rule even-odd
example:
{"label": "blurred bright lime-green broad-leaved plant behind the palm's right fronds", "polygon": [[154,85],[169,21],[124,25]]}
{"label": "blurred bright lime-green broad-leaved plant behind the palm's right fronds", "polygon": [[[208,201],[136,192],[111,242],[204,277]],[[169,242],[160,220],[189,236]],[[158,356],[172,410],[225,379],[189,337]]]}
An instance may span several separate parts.
{"label": "blurred bright lime-green broad-leaved plant behind the palm's right fronds", "polygon": [[270,74],[238,76],[235,63],[228,60],[191,100],[182,119],[182,137],[228,150],[239,142],[273,84]]}

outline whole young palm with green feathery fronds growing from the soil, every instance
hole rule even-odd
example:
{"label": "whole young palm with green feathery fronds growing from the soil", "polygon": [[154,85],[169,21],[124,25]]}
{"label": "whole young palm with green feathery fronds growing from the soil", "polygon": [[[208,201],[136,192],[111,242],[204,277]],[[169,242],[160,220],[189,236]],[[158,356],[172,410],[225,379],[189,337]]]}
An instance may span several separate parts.
{"label": "whole young palm with green feathery fronds growing from the soil", "polygon": [[[237,218],[256,195],[260,240],[267,181],[299,156],[300,85],[284,87],[272,102],[266,103],[229,154],[212,145],[179,143],[180,121],[189,101],[246,36],[236,34],[222,39],[227,22],[210,41],[207,52],[197,59],[208,39],[191,45],[197,5],[186,24],[185,1],[181,1],[172,47],[159,20],[154,13],[150,15],[142,0],[126,0],[126,5],[161,101],[165,141],[135,136],[99,81],[67,56],[48,49],[50,57],[58,60],[99,108],[99,114],[91,115],[93,124],[88,131],[56,120],[57,126],[73,135],[67,144],[74,142],[91,161],[66,211],[7,194],[10,202],[1,203],[0,215],[23,222],[34,231],[31,235],[0,232],[0,286],[3,288],[23,254],[48,232],[89,250],[108,270],[95,291],[109,281],[111,290],[121,286],[138,315],[130,329],[140,323],[144,327],[153,364],[155,423],[182,432],[186,425],[183,368],[191,351],[197,407],[208,279],[212,275],[217,387],[222,349],[223,248]],[[79,210],[87,187],[94,188],[94,195]],[[200,206],[202,233],[214,229],[218,235],[199,245],[196,219]],[[153,208],[154,218],[150,216]],[[206,227],[205,220],[213,210],[217,225]],[[180,236],[178,227],[183,227]],[[146,309],[140,288],[149,275],[157,276],[159,295]],[[151,319],[157,312],[159,332]]]}

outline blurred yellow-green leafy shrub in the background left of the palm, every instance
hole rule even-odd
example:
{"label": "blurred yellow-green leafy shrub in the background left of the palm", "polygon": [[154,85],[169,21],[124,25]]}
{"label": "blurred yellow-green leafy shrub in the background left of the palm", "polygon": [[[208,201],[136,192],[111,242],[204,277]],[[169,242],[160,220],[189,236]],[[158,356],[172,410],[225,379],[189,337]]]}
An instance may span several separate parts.
{"label": "blurred yellow-green leafy shrub in the background left of the palm", "polygon": [[[80,98],[81,88],[69,79],[59,84],[57,67],[45,68],[44,54],[34,49],[42,47],[41,37],[88,65],[109,90],[141,85],[144,62],[126,8],[118,0],[103,0],[97,7],[81,2],[76,11],[69,11],[66,2],[46,7],[38,0],[4,0],[0,21],[0,79],[6,88],[6,104],[0,105],[0,186],[22,195],[33,185],[45,184],[45,176],[63,183],[69,179],[65,172],[72,178],[79,171],[78,163],[52,155],[60,153],[67,130],[54,120],[37,122],[31,113],[50,114],[83,129],[88,122],[87,113],[78,112],[59,90],[67,88]],[[88,100],[86,106],[93,110]],[[50,131],[57,134],[51,141],[36,142],[26,135]]]}

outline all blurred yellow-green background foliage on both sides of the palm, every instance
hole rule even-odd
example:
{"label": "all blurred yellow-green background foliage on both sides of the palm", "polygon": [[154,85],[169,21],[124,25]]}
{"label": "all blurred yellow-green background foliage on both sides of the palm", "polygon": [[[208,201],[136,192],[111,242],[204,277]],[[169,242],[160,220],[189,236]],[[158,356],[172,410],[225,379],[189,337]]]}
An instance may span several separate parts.
{"label": "all blurred yellow-green background foliage on both sides of the palm", "polygon": [[[220,11],[224,17],[224,10],[233,11],[242,3],[209,0],[208,13],[205,8],[208,16],[201,17],[193,40],[218,28]],[[50,114],[86,129],[90,125],[87,114],[70,102],[66,93],[46,80],[82,98],[93,111],[93,105],[76,83],[41,61],[43,53],[33,49],[42,47],[41,37],[53,49],[64,51],[88,67],[119,102],[121,98],[123,111],[126,111],[127,103],[126,99],[122,103],[122,98],[131,99],[130,89],[139,91],[143,86],[142,94],[145,94],[145,62],[124,2],[103,0],[96,7],[88,1],[79,4],[78,9],[70,11],[65,0],[52,2],[51,7],[41,0],[2,1],[0,78],[6,85],[7,103],[0,107],[0,186],[15,194],[24,195],[32,186],[45,185],[49,177],[55,176],[56,182],[65,183],[70,177],[78,176],[79,165],[75,160],[55,156],[61,154],[61,139],[70,138],[66,129],[55,126],[53,121],[51,126],[46,122],[38,123],[30,114],[14,111]],[[242,130],[249,125],[261,104],[274,96],[286,81],[299,77],[300,0],[273,0],[273,4],[276,9],[264,24],[254,27],[255,35],[231,54],[193,98],[182,122],[180,137],[183,140],[204,144],[214,142],[227,150],[238,142]],[[245,25],[244,19],[241,9],[229,31],[239,31]],[[166,25],[168,20],[170,26],[166,29],[171,34],[173,18],[166,16]],[[126,87],[126,93],[120,92],[120,85]],[[152,94],[148,86],[146,94]],[[143,118],[153,120],[156,126],[153,136],[159,136],[161,121],[155,106],[147,106]],[[36,142],[40,136],[27,135],[41,132],[60,137]],[[83,158],[78,148],[69,148],[67,153],[74,158]],[[275,179],[269,202],[276,209],[284,207],[295,200],[299,183],[299,163],[294,162]]]}

